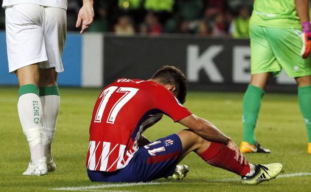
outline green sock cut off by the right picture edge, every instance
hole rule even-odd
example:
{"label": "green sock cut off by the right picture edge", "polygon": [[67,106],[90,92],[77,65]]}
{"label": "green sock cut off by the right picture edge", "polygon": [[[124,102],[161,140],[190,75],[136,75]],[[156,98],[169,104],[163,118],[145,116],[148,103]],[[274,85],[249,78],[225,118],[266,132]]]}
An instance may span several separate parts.
{"label": "green sock cut off by the right picture edge", "polygon": [[298,87],[298,99],[300,111],[305,119],[308,139],[311,142],[311,85]]}

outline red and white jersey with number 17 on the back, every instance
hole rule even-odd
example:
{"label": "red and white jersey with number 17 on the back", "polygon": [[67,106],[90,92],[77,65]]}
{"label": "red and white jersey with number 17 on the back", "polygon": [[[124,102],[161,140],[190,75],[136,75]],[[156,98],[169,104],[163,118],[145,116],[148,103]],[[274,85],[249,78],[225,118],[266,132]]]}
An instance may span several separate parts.
{"label": "red and white jersey with number 17 on the back", "polygon": [[173,94],[153,81],[117,79],[99,95],[90,125],[86,166],[113,172],[128,165],[146,127],[166,114],[174,122],[191,113]]}

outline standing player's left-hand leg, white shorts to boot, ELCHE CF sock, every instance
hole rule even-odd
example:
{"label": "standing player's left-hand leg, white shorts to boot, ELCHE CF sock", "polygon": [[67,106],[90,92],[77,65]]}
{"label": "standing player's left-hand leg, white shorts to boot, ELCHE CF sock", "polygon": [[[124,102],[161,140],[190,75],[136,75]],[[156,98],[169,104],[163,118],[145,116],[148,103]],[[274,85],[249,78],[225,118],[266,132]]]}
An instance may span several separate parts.
{"label": "standing player's left-hand leg, white shorts to boot, ELCHE CF sock", "polygon": [[5,9],[9,72],[19,82],[18,115],[30,148],[31,161],[23,175],[45,175],[41,145],[42,105],[38,96],[39,65],[47,60],[42,33],[42,6],[16,4]]}

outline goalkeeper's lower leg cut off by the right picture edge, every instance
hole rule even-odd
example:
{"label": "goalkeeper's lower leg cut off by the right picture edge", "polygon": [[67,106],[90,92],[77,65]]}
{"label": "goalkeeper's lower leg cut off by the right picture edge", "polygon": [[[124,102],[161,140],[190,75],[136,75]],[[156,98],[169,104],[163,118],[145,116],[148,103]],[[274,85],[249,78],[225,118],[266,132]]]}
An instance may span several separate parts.
{"label": "goalkeeper's lower leg cut off by the right picture edge", "polygon": [[311,76],[296,77],[300,111],[308,133],[308,153],[311,154]]}

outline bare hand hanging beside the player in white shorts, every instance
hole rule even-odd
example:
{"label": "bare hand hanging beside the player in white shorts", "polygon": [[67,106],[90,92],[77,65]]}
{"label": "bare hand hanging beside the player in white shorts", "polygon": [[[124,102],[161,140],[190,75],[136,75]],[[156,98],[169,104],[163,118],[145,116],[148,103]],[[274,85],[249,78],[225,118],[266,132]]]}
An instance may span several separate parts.
{"label": "bare hand hanging beside the player in white shorts", "polygon": [[76,27],[80,27],[82,24],[82,28],[80,34],[84,32],[84,30],[91,25],[94,18],[94,9],[93,3],[83,3],[83,6],[80,8],[77,18]]}

